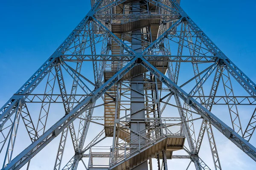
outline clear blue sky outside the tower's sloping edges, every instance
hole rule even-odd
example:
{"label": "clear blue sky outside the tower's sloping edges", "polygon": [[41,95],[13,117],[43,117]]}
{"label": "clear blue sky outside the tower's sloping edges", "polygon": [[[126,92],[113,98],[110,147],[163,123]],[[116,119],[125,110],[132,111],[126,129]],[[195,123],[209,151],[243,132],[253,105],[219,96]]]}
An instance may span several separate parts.
{"label": "clear blue sky outside the tower's sloping edges", "polygon": [[[23,85],[70,34],[90,9],[89,2],[1,1],[0,105]],[[181,0],[181,7],[227,57],[256,82],[256,2]],[[230,147],[229,143],[224,143],[222,148],[233,150],[236,146]],[[248,169],[255,167],[255,162],[241,151],[235,150],[230,153],[245,156],[242,164],[249,164]],[[227,154],[223,157],[229,156]],[[240,159],[236,156],[231,158],[236,161]]]}

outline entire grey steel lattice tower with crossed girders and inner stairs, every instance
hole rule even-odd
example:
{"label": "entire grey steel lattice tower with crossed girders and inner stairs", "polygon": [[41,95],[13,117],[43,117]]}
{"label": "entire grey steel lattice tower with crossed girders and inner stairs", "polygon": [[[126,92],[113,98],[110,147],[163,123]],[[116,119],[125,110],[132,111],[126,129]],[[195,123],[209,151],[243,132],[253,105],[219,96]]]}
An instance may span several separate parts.
{"label": "entire grey steel lattice tower with crossed girders and inner stairs", "polygon": [[[180,0],[91,0],[91,6],[1,108],[2,170],[29,169],[57,136],[58,148],[50,151],[57,152],[54,170],[76,170],[79,163],[88,170],[167,170],[169,159],[209,170],[199,154],[203,138],[209,140],[211,168],[221,170],[213,128],[256,161],[249,143],[256,85],[183,11]],[[48,125],[56,107],[59,120]],[[253,108],[245,127],[239,107]],[[215,108],[223,109],[225,119],[215,116]],[[30,143],[17,154],[21,123]],[[90,130],[92,124],[102,130]],[[67,140],[73,153],[64,152]],[[70,161],[62,162],[63,156]]]}

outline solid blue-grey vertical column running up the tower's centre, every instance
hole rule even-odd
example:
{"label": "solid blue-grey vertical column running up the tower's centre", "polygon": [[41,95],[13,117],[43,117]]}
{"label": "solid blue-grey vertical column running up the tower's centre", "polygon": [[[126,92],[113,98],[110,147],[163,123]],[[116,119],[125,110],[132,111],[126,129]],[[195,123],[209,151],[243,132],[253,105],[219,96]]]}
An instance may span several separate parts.
{"label": "solid blue-grey vertical column running up the tower's centre", "polygon": [[[134,2],[132,4],[132,14],[140,14],[140,2]],[[142,41],[141,41],[141,29],[135,30],[131,32],[131,48],[136,53],[142,52]],[[145,107],[144,104],[144,88],[143,88],[143,74],[139,74],[136,77],[131,78],[131,88],[137,91],[131,90],[131,113],[140,110],[141,108]],[[139,111],[131,115],[131,129],[139,132],[145,129],[145,111]],[[145,133],[145,132],[143,132]],[[137,135],[134,135],[131,132],[131,142],[138,139]],[[143,144],[145,140],[140,139],[140,141],[134,141],[131,147],[138,147],[139,144]],[[132,165],[130,165],[132,166]],[[133,170],[148,170],[148,161],[143,162],[139,166],[135,167]]]}

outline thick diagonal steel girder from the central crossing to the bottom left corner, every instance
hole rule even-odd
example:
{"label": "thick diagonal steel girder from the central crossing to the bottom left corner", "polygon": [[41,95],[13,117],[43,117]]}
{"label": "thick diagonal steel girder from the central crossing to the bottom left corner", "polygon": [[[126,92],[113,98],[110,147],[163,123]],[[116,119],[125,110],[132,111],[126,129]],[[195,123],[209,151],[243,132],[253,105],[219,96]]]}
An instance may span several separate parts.
{"label": "thick diagonal steel girder from the central crossing to the bottom left corner", "polygon": [[120,71],[118,71],[111,79],[104,83],[100,88],[93,91],[93,96],[88,96],[79,105],[77,105],[73,110],[60,119],[55,125],[53,125],[49,130],[47,130],[42,136],[38,138],[37,141],[33,142],[26,150],[23,150],[17,157],[15,157],[10,164],[8,164],[4,169],[19,169],[24,164],[26,164],[32,156],[35,156],[41,149],[43,149],[52,139],[54,139],[58,134],[60,134],[71,122],[73,122],[77,116],[80,116],[84,111],[89,108],[96,99],[98,99],[102,94],[104,94],[108,88],[118,82],[121,79],[121,75],[125,75],[131,68],[133,68],[136,63],[137,58],[125,65]]}

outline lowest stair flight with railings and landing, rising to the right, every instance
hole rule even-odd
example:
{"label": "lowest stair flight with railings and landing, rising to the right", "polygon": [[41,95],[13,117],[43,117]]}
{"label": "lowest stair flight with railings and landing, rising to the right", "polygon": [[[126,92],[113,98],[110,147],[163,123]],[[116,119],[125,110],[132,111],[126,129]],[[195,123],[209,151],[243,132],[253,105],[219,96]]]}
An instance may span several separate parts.
{"label": "lowest stair flight with railings and landing, rising to the right", "polygon": [[[157,154],[161,156],[162,151],[166,151],[169,158],[173,151],[183,149],[185,142],[183,134],[172,134],[165,124],[152,125],[141,131],[140,134],[143,135],[131,136],[131,138],[137,136],[137,139],[132,142],[119,143],[120,147],[114,148],[110,154],[110,170],[133,169],[148,159],[156,157]],[[137,144],[138,141],[145,142]]]}

